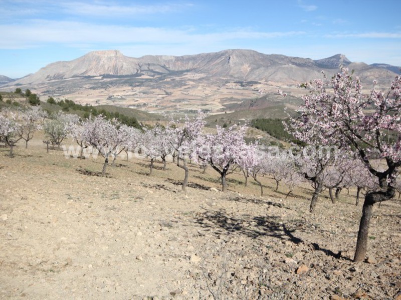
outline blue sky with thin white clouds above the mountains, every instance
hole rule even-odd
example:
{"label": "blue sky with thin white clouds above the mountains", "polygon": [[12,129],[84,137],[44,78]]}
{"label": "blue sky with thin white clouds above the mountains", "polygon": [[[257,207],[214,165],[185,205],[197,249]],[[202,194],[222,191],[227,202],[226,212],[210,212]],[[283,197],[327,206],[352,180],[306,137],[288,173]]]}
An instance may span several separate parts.
{"label": "blue sky with thin white clouds above the mountains", "polygon": [[0,0],[0,74],[92,50],[185,55],[224,49],[401,66],[399,0]]}

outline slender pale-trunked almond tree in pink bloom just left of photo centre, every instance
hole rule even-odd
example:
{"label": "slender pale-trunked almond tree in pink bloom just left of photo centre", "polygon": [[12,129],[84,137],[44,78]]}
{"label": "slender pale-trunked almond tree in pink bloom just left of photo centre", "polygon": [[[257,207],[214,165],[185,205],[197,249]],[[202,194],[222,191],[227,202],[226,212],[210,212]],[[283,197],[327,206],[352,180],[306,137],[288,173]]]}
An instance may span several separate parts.
{"label": "slender pale-trunked almond tree in pink bloom just left of photo centre", "polygon": [[205,126],[204,118],[205,114],[198,111],[192,120],[185,116],[183,122],[180,120],[171,120],[170,124],[166,127],[165,133],[168,142],[177,154],[177,166],[185,172],[182,191],[185,191],[189,177],[186,159],[197,159],[195,151],[196,140]]}

